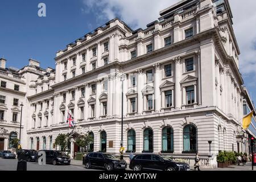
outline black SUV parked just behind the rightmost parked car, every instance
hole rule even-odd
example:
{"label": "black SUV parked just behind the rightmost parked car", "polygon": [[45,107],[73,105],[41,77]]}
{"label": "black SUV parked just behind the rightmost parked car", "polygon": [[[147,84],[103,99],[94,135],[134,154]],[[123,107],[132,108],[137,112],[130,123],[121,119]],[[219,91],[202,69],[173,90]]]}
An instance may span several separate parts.
{"label": "black SUV parked just behind the rightmost parked car", "polygon": [[116,158],[112,154],[102,152],[90,152],[84,158],[84,164],[87,169],[91,167],[105,168],[107,171],[114,169],[123,169],[127,167],[125,160]]}

